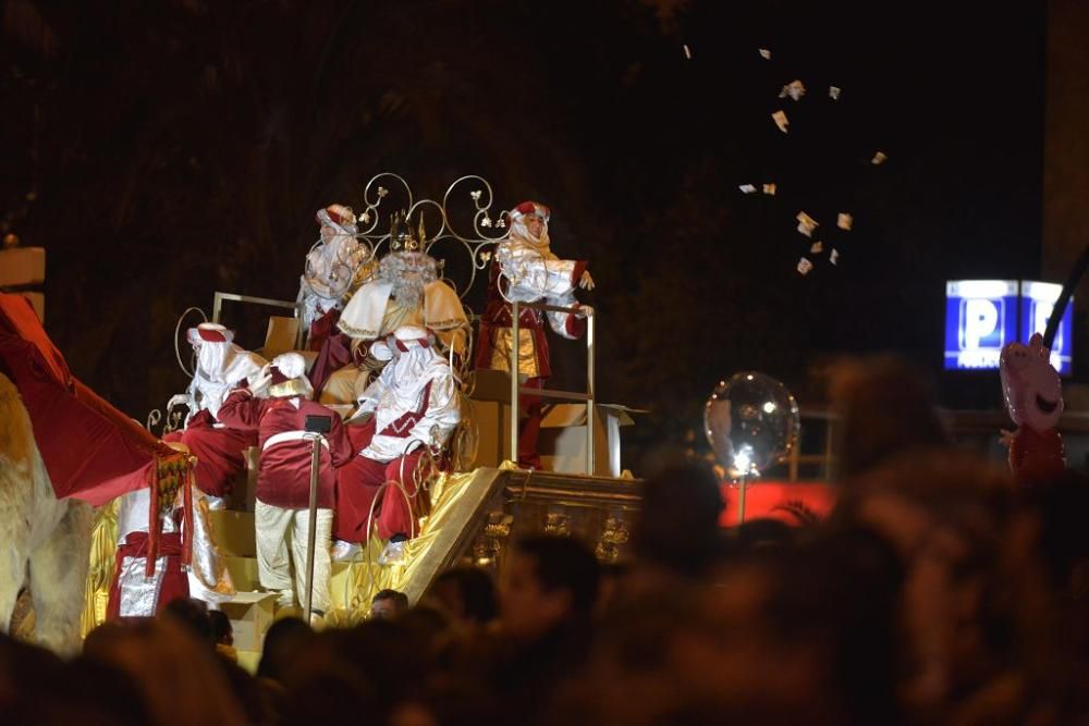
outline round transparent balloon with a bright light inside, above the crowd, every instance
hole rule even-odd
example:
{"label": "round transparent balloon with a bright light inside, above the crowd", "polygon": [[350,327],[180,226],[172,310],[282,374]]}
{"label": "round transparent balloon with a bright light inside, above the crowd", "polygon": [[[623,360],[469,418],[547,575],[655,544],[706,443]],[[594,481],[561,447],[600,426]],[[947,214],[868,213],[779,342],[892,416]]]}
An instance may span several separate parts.
{"label": "round transparent balloon with a bright light inside, above the crowd", "polygon": [[759,477],[797,445],[798,404],[763,373],[737,373],[715,386],[703,409],[703,432],[733,480]]}

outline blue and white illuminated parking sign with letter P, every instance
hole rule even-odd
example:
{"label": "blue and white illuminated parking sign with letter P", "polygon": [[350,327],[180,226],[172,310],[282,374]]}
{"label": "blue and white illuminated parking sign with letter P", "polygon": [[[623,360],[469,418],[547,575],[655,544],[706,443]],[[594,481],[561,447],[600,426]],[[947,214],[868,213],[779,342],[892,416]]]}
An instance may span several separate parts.
{"label": "blue and white illuminated parking sign with letter P", "polygon": [[[945,283],[945,369],[999,367],[1006,343],[1027,343],[1042,333],[1062,285],[1016,280],[954,280]],[[1052,345],[1052,365],[1070,371],[1074,300],[1066,307]]]}

